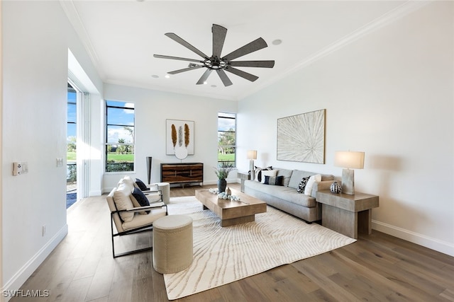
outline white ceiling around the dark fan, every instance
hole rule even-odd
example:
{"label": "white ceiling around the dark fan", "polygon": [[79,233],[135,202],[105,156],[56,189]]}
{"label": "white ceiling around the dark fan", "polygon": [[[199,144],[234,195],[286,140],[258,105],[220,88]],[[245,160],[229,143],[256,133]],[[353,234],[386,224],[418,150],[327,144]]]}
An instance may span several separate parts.
{"label": "white ceiling around the dark fan", "polygon": [[[323,55],[402,16],[414,1],[61,1],[105,83],[240,100]],[[222,54],[258,37],[268,47],[237,60],[275,60],[272,69],[238,67],[259,76],[250,82],[228,73],[224,87],[216,73],[196,85],[205,69],[166,79],[189,62],[153,54],[199,59],[166,37],[175,33],[211,55],[212,24],[228,29]],[[273,45],[273,40],[282,44]],[[159,76],[154,78],[153,75]],[[216,87],[212,87],[215,85]]]}

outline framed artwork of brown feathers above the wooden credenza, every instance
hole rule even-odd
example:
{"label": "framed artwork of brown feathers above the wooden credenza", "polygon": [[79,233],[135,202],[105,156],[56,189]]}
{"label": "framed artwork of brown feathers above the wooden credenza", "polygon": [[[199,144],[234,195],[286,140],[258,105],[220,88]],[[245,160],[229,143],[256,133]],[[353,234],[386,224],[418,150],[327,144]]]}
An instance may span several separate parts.
{"label": "framed artwork of brown feathers above the wooden credenza", "polygon": [[178,159],[194,155],[194,121],[165,120],[166,154]]}

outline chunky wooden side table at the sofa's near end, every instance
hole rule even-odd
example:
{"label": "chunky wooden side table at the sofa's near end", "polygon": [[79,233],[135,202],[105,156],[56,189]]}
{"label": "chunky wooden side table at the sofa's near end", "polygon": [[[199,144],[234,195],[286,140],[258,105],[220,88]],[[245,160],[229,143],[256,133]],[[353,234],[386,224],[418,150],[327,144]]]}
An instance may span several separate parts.
{"label": "chunky wooden side table at the sofa's near end", "polygon": [[372,208],[378,207],[378,196],[360,192],[334,194],[323,190],[317,192],[316,201],[322,204],[322,226],[355,239],[358,232],[372,233]]}

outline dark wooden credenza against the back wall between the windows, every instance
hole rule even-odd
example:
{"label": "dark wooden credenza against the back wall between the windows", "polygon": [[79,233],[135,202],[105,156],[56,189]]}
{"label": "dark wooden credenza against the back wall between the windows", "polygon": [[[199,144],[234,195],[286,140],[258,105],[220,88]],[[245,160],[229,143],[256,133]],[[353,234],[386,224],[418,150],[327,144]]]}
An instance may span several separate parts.
{"label": "dark wooden credenza against the back wall between the windows", "polygon": [[161,182],[204,182],[204,163],[161,163]]}

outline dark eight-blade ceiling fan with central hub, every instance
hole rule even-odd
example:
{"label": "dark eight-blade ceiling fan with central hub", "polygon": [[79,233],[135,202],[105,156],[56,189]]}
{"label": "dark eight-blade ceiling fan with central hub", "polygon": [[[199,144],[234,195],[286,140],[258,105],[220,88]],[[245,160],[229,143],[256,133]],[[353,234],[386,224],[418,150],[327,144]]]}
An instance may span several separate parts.
{"label": "dark eight-blade ceiling fan with central hub", "polygon": [[267,47],[267,43],[261,37],[259,37],[257,40],[254,40],[253,42],[244,45],[243,47],[238,48],[238,50],[235,50],[230,54],[226,54],[225,56],[221,57],[224,40],[226,40],[227,28],[223,28],[221,25],[213,24],[211,32],[213,33],[213,54],[211,54],[211,57],[204,54],[204,52],[196,49],[196,47],[190,45],[181,37],[175,35],[175,33],[166,33],[165,35],[167,35],[167,37],[170,37],[170,39],[174,40],[175,42],[183,45],[187,49],[191,50],[192,52],[199,54],[199,56],[203,59],[187,59],[182,57],[165,56],[162,54],[154,54],[153,57],[160,59],[176,59],[181,61],[201,63],[189,64],[189,67],[187,68],[167,72],[167,74],[179,74],[184,71],[206,68],[204,74],[201,76],[199,81],[197,81],[197,85],[206,83],[206,79],[208,79],[211,71],[216,71],[219,78],[221,78],[224,86],[232,85],[232,82],[230,81],[230,79],[228,79],[225,71],[228,71],[231,74],[236,74],[237,76],[253,82],[258,79],[258,76],[249,74],[248,72],[242,71],[240,69],[236,69],[235,67],[272,68],[273,66],[275,66],[275,61],[233,61],[238,57],[243,57],[245,54],[250,54],[251,52],[255,52]]}

